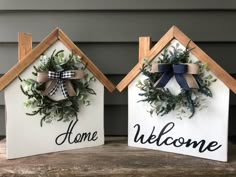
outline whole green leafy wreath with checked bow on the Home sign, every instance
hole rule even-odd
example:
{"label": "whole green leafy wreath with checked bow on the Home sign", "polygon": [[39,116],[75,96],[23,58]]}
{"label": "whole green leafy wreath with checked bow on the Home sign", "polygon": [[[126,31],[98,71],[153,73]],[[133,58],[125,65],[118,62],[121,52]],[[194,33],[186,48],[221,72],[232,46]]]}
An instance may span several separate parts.
{"label": "whole green leafy wreath with checked bow on the Home sign", "polygon": [[[81,104],[89,105],[89,94],[96,95],[95,91],[89,87],[91,82],[96,79],[94,76],[83,73],[86,69],[86,65],[81,62],[81,57],[72,53],[69,57],[65,57],[64,51],[53,51],[52,55],[41,55],[39,65],[34,66],[35,72],[32,72],[34,78],[21,79],[21,91],[27,96],[27,101],[24,103],[25,107],[32,108],[31,113],[26,113],[29,116],[36,114],[42,115],[40,126],[43,126],[43,122],[51,123],[53,120],[57,121],[70,121],[73,118],[77,118],[77,113],[80,111]],[[75,72],[74,72],[75,71]],[[49,74],[54,73],[54,80],[46,79],[46,82],[39,82],[39,75],[45,79],[49,77]],[[68,79],[68,77],[74,77],[75,73],[80,74],[79,79]],[[63,74],[65,78],[63,78]],[[68,76],[69,75],[69,76]],[[48,87],[51,82],[51,88]],[[54,83],[53,83],[54,82]],[[69,82],[69,84],[68,84]],[[65,85],[65,83],[67,85]],[[71,95],[68,93],[67,86],[71,91]],[[58,89],[62,89],[62,93],[65,99],[55,101],[49,97],[53,95]],[[45,93],[47,90],[47,93]]]}

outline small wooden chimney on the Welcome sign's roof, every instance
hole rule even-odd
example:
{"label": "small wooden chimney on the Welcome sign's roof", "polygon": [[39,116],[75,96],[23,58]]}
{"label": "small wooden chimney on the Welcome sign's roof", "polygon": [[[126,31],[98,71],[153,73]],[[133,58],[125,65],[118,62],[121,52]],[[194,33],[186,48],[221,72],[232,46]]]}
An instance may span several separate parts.
{"label": "small wooden chimney on the Welcome sign's roof", "polygon": [[151,47],[150,36],[139,37],[139,62],[142,62],[143,58],[147,57],[150,47]]}

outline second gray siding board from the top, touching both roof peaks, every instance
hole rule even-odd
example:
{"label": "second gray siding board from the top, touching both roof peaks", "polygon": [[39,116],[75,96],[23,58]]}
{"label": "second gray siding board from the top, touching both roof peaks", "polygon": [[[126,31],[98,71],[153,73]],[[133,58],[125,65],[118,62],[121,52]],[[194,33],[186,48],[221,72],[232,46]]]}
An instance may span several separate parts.
{"label": "second gray siding board from the top, touching both roof peaks", "polygon": [[80,42],[156,41],[173,25],[197,42],[236,42],[235,19],[235,11],[3,11],[0,42],[16,42],[19,31],[39,42],[56,27]]}

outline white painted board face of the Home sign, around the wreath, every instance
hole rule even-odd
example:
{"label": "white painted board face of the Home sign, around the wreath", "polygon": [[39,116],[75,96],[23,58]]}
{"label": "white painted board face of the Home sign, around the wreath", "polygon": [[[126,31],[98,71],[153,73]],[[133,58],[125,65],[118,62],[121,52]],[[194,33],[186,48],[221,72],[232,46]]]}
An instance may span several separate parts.
{"label": "white painted board face of the Home sign, around the wreath", "polygon": [[[65,50],[66,56],[71,53],[60,41],[54,43],[44,53],[50,56],[54,49]],[[30,78],[33,65],[37,65],[38,62],[39,60],[36,60],[25,69],[20,74],[21,78]],[[53,121],[50,124],[44,123],[43,127],[40,127],[39,115],[27,116],[25,114],[30,110],[23,105],[27,97],[21,92],[20,84],[19,79],[16,78],[5,89],[8,159],[104,144],[104,86],[99,80],[91,83],[91,88],[94,89],[96,95],[90,95],[91,105],[81,107],[78,122],[75,120],[73,122]],[[70,136],[65,134],[68,129],[72,130]],[[91,141],[87,138],[85,141],[75,143],[75,137],[80,139],[83,133],[91,133]]]}

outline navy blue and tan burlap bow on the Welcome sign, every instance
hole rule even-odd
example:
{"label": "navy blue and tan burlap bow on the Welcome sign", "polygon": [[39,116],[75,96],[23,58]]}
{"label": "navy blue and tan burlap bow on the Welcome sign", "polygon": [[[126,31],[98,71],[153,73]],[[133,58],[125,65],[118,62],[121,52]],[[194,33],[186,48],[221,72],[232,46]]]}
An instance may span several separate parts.
{"label": "navy blue and tan burlap bow on the Welcome sign", "polygon": [[192,63],[184,64],[159,64],[152,65],[153,73],[162,73],[162,76],[154,83],[154,87],[165,87],[169,80],[175,76],[176,81],[184,90],[199,88],[192,74],[199,73],[199,66]]}

